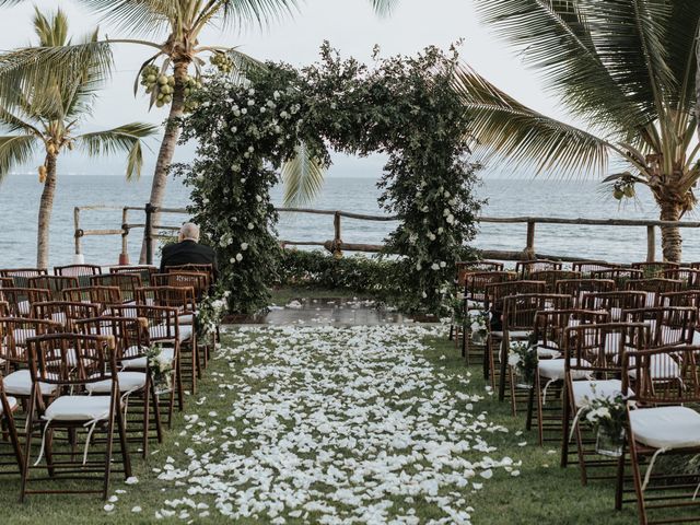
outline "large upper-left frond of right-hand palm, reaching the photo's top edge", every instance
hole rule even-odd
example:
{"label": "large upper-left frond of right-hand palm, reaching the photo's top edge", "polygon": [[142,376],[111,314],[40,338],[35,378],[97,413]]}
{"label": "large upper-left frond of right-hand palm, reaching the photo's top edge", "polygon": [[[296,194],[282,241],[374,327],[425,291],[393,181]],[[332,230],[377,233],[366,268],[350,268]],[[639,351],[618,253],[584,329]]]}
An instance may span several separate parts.
{"label": "large upper-left frond of right-hand palm, reaching the photo's top edge", "polygon": [[[631,101],[637,85],[629,82],[635,79],[608,69],[609,54],[604,59],[600,49],[610,54],[615,49],[598,36],[600,23],[593,24],[590,13],[600,4],[626,1],[477,0],[476,4],[483,21],[521,52],[572,114],[607,131],[631,133],[654,120],[654,105],[643,97]],[[625,16],[629,19],[629,13]]]}

